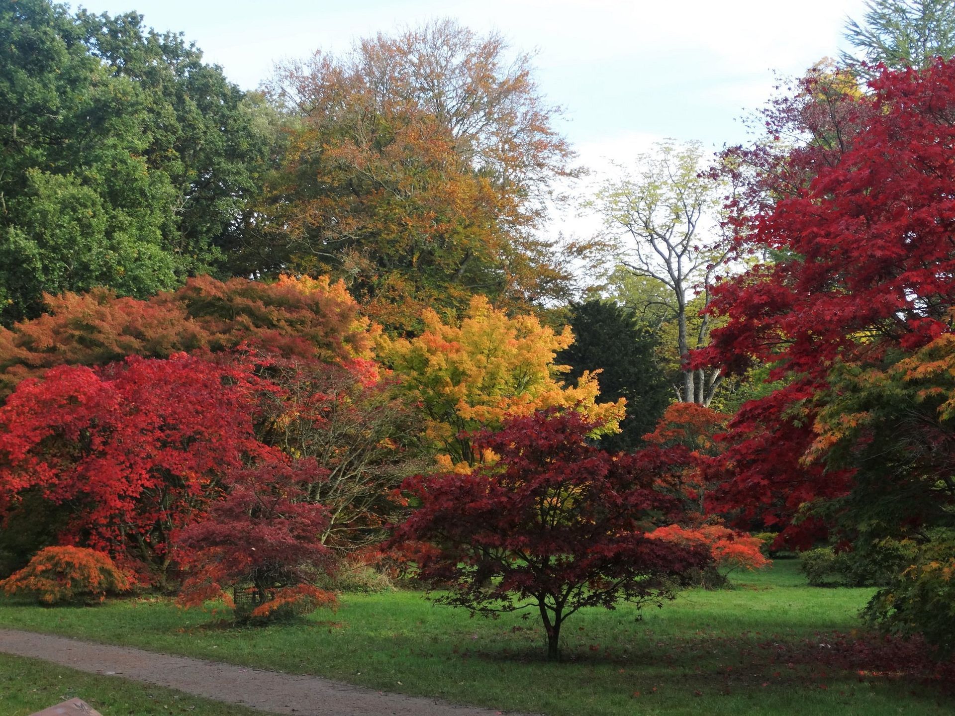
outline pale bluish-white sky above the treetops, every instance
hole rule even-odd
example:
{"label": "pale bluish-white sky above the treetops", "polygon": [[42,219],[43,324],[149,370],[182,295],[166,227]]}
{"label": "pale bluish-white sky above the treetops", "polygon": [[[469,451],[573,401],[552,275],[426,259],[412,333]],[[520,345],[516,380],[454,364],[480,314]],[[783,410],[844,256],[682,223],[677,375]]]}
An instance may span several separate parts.
{"label": "pale bluish-white sky above the treetops", "polygon": [[[627,162],[665,137],[712,149],[744,141],[739,117],[772,94],[774,71],[798,76],[843,49],[863,0],[86,0],[90,11],[135,10],[159,31],[184,32],[254,89],[273,63],[439,17],[497,30],[536,53],[541,92],[586,166]],[[75,3],[74,3],[75,5]],[[564,216],[565,230],[593,221]]]}

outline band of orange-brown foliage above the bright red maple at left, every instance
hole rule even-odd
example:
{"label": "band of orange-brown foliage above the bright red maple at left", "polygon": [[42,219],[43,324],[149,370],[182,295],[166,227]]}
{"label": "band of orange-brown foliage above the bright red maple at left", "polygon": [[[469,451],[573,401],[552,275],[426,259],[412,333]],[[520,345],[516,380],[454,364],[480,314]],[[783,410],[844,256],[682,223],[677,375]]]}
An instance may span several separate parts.
{"label": "band of orange-brown foliage above the bright red maple at left", "polygon": [[280,277],[274,283],[209,276],[147,300],[105,288],[45,297],[47,312],[0,327],[0,397],[60,365],[100,366],[130,355],[243,346],[286,358],[370,363],[377,327],[344,284]]}

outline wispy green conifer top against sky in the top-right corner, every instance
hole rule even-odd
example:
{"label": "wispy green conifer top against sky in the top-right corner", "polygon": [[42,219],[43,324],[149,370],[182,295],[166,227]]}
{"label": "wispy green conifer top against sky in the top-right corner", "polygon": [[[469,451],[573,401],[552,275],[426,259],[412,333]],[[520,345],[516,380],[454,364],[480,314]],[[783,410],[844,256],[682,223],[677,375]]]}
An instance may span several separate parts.
{"label": "wispy green conifer top against sky in the top-right corner", "polygon": [[859,54],[841,54],[846,67],[862,76],[873,74],[863,63],[923,69],[936,57],[955,55],[952,0],[868,0],[865,6],[861,22],[845,24],[845,37]]}

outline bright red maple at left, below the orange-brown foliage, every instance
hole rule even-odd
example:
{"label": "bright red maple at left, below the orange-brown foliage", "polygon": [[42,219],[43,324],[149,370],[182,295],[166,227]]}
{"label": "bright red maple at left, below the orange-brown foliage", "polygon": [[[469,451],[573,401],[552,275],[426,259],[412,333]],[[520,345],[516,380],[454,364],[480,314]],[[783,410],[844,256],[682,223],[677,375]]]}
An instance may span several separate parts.
{"label": "bright red maple at left, below the orange-brown foliage", "polygon": [[25,380],[0,408],[0,511],[32,493],[68,504],[62,542],[162,579],[172,531],[270,453],[253,432],[261,388],[241,361],[184,354]]}

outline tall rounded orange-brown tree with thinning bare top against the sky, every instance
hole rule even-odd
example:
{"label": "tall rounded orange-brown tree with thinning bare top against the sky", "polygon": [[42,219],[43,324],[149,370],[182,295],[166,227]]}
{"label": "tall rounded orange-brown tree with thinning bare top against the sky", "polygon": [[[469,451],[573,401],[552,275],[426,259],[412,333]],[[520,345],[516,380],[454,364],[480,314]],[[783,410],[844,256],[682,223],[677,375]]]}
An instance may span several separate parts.
{"label": "tall rounded orange-brown tree with thinning bare top against the sky", "polygon": [[[571,275],[535,229],[576,174],[529,57],[453,21],[315,53],[270,86],[299,123],[273,185],[277,262],[345,277],[395,331],[475,292],[565,295]],[[267,231],[265,233],[268,233]]]}

